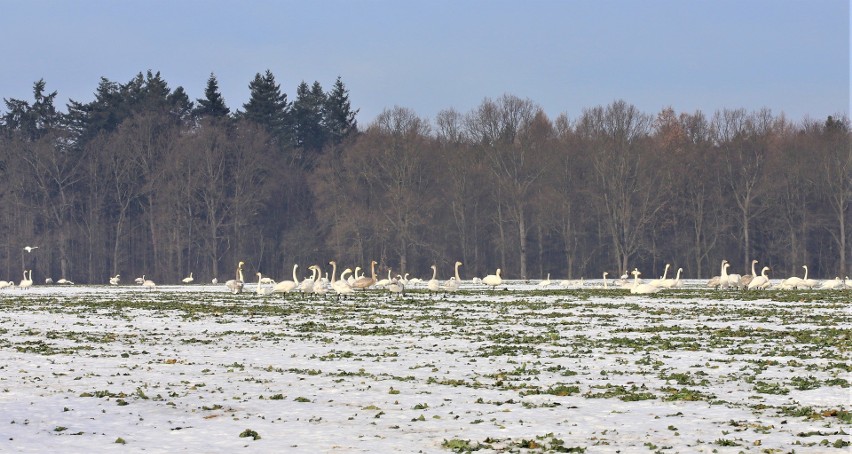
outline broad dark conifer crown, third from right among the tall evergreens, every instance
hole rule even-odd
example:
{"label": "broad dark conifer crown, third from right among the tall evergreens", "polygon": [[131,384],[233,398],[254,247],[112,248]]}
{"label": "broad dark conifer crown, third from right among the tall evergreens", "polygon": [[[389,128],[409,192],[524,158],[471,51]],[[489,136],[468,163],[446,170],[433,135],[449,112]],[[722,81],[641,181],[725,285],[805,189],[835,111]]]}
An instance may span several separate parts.
{"label": "broad dark conifer crown, third from right among the tall evergreens", "polygon": [[291,106],[287,94],[281,93],[281,87],[275,83],[272,71],[257,73],[249,83],[249,90],[251,96],[243,104],[245,112],[240,117],[261,125],[282,149],[292,146]]}

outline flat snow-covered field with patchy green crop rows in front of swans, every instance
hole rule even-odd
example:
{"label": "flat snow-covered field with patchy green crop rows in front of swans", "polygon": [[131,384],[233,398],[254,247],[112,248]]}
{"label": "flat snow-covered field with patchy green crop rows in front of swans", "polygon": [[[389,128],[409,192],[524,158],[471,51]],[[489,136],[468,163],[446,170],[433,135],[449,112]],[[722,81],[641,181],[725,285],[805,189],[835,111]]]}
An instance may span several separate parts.
{"label": "flat snow-covered field with patchy green crop rows in front of swans", "polygon": [[849,452],[852,294],[691,284],[7,289],[0,452]]}

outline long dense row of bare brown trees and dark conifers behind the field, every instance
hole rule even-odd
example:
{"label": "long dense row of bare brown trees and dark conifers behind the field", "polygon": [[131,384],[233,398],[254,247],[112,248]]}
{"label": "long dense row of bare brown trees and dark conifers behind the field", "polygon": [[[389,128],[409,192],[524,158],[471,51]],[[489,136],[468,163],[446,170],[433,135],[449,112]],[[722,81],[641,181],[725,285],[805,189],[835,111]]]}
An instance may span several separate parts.
{"label": "long dense row of bare brown trees and dark conifers behind the field", "polygon": [[[43,80],[0,117],[0,273],[36,282],[275,278],[294,263],[447,277],[600,277],[722,259],[775,276],[844,276],[852,145],[845,115],[649,114],[617,100],[549,118],[506,94],[434,119],[385,109],[359,128],[341,78],[288,99],[270,71],[231,111],[210,76],[190,100],[159,73],[102,78],[55,107]],[[39,249],[26,252],[26,245]]]}

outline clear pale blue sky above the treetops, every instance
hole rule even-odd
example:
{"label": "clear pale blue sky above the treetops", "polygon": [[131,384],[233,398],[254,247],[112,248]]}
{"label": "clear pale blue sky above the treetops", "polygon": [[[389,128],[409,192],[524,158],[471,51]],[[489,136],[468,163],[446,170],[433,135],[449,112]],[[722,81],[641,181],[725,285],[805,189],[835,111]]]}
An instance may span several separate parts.
{"label": "clear pale blue sky above the treetops", "polygon": [[192,99],[214,73],[233,111],[269,69],[290,100],[342,77],[362,126],[504,93],[551,118],[623,99],[800,121],[848,115],[849,24],[848,0],[0,0],[0,97],[43,78],[64,111],[151,69]]}

